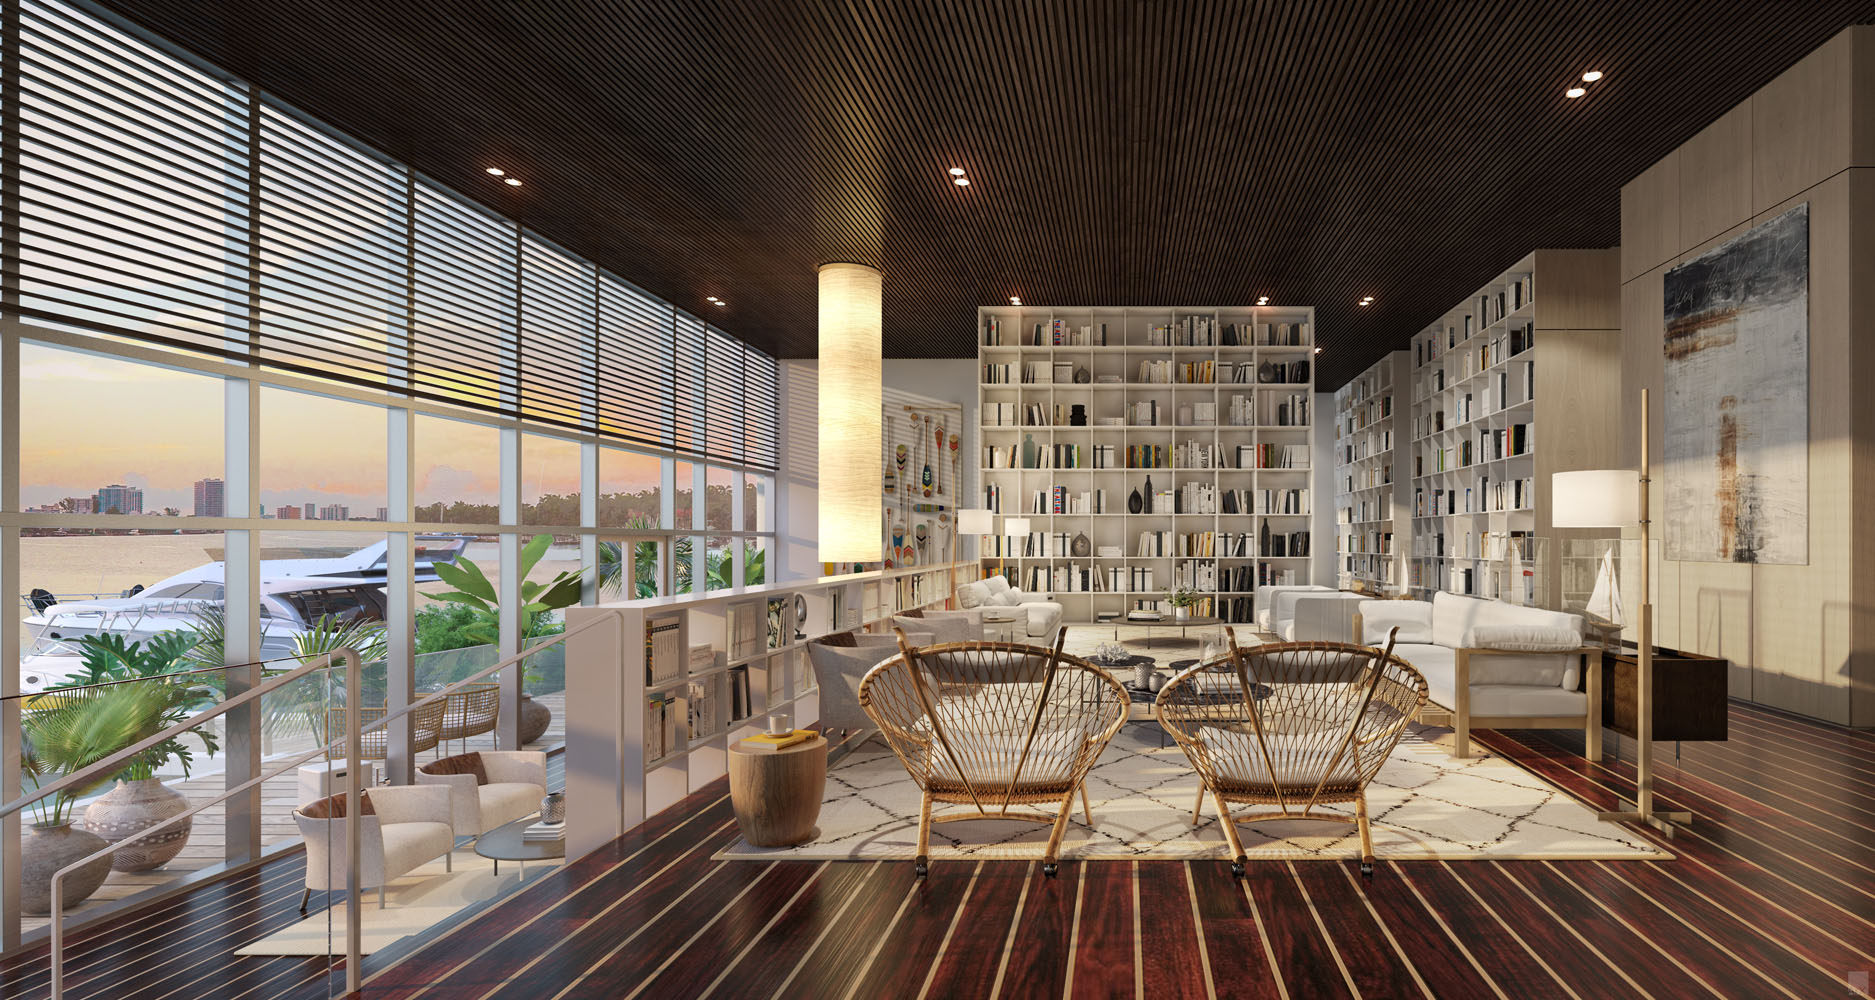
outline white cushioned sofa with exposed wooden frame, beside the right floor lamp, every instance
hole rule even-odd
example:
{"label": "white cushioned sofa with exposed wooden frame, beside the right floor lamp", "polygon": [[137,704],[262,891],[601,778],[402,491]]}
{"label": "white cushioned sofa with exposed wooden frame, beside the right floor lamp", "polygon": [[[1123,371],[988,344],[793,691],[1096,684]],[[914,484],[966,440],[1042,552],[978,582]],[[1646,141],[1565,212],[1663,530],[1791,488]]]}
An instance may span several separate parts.
{"label": "white cushioned sofa with exposed wooden frame, beside the right floor lamp", "polygon": [[1359,604],[1359,642],[1386,645],[1393,627],[1393,653],[1427,683],[1421,720],[1451,726],[1453,756],[1470,756],[1474,728],[1581,726],[1601,758],[1601,651],[1582,645],[1581,615],[1449,593]]}

